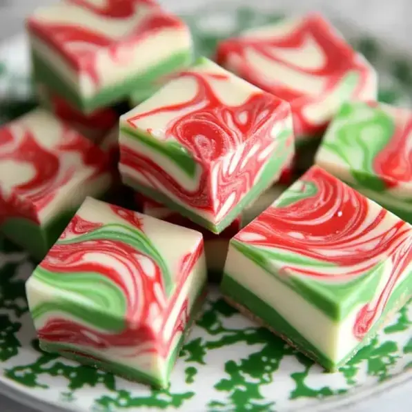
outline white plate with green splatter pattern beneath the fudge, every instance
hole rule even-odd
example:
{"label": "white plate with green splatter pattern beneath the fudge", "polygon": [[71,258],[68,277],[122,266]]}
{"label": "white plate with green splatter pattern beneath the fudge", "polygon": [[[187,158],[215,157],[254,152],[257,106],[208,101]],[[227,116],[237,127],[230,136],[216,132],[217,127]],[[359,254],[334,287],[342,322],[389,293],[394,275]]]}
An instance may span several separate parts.
{"label": "white plate with green splatter pattern beneath the fudge", "polygon": [[[216,42],[280,14],[251,8],[205,8],[186,16],[199,54],[212,55]],[[410,104],[412,65],[388,53],[374,39],[353,44],[380,70],[380,99]],[[24,52],[17,40],[13,55]],[[28,64],[19,65],[0,47],[0,122],[35,102]],[[22,87],[22,82],[26,86]],[[14,101],[17,101],[16,104]],[[27,255],[0,239],[0,389],[8,385],[41,402],[81,412],[176,409],[182,411],[307,411],[319,402],[331,408],[358,393],[381,390],[391,377],[406,379],[412,369],[412,304],[339,372],[326,374],[264,328],[230,308],[211,291],[202,317],[180,354],[167,390],[152,390],[109,373],[81,366],[39,350],[28,313],[24,282],[34,268]],[[34,401],[33,401],[34,402]],[[327,403],[326,403],[327,404]]]}

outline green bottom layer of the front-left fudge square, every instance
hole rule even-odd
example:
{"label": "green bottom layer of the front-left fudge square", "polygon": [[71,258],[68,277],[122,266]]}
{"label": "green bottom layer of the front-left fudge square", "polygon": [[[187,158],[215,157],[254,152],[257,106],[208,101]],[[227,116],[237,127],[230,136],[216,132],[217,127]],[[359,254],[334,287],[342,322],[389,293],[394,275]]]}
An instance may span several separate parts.
{"label": "green bottom layer of the front-left fudge square", "polygon": [[[177,357],[179,356],[179,351],[182,349],[183,343],[185,338],[187,337],[188,333],[190,333],[190,329],[192,328],[197,315],[199,315],[202,304],[204,302],[204,297],[206,296],[206,285],[203,286],[199,294],[196,297],[195,304],[190,313],[190,321],[186,325],[186,329],[182,337],[180,337],[179,342],[177,343],[175,349],[173,349],[173,353],[170,354],[168,362],[166,364],[166,371],[142,371],[140,369],[135,369],[127,364],[119,364],[117,362],[110,362],[107,359],[97,359],[97,354],[92,352],[86,352],[84,349],[76,348],[75,345],[69,344],[57,344],[55,342],[48,342],[45,340],[39,340],[40,349],[50,353],[58,353],[59,355],[66,357],[70,360],[75,360],[80,364],[84,364],[86,366],[92,366],[93,368],[102,369],[104,371],[108,371],[110,373],[114,373],[115,375],[119,375],[124,377],[127,380],[131,380],[133,382],[141,382],[144,384],[149,384],[154,386],[155,388],[167,388],[170,380],[170,373],[173,369],[173,366],[176,363]],[[91,359],[88,355],[94,357]]]}

